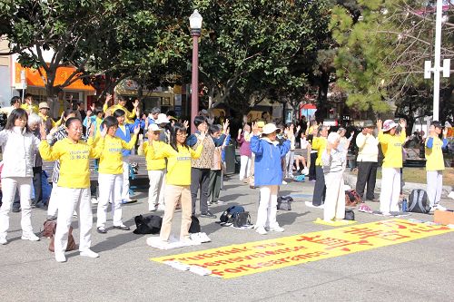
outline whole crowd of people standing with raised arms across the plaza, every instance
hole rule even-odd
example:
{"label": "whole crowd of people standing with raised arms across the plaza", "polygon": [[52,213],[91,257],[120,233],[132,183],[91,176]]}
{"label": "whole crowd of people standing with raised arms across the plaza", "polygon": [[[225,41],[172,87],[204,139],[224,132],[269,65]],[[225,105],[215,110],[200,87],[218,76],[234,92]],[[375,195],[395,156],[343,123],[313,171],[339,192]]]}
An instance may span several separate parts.
{"label": "whole crowd of people standing with raised arms across the plaza", "polygon": [[[3,151],[0,244],[7,243],[9,211],[15,199],[22,209],[22,239],[39,240],[32,228],[30,200],[33,193],[35,206],[44,202],[42,165],[43,161],[54,161],[53,188],[46,204],[48,219],[56,219],[54,257],[58,262],[66,261],[64,251],[75,213],[80,227],[80,255],[97,258],[99,255],[90,248],[94,223],[91,196],[99,191],[94,198],[98,233],[108,231],[109,204],[114,229],[130,229],[123,223],[122,205],[132,200],[129,156],[137,144],[148,171],[148,209],[163,210],[159,238],[163,243],[169,240],[176,209],[182,209],[182,241],[191,241],[192,216],[216,219],[209,206],[224,202],[219,197],[224,149],[231,141],[229,120],[222,116],[218,124],[202,111],[193,119],[197,131],[189,135],[188,122],[178,122],[159,108],[141,115],[138,101],[133,102],[133,111],[126,108],[121,96],[116,104],[109,105],[112,101],[113,96],[108,95],[104,106],[92,106],[84,119],[77,110],[67,109],[54,122],[48,116],[46,102],[36,106],[32,97],[25,97],[23,104],[19,98],[13,98],[11,108],[5,110],[8,114],[5,129],[0,132]],[[344,219],[343,173],[352,143],[359,149],[356,190],[360,197],[378,201],[375,182],[380,148],[384,156],[380,211],[383,215],[399,211],[405,129],[404,120],[366,121],[353,141],[354,132],[347,138],[344,128],[331,131],[329,126],[316,121],[302,126],[268,121],[244,124],[236,136],[241,159],[239,180],[260,190],[255,231],[261,235],[284,231],[276,218],[279,190],[286,180],[298,175],[307,175],[315,182],[311,205],[323,208],[325,221]],[[443,209],[439,200],[446,134],[439,122],[431,123],[426,168],[432,209]],[[98,172],[97,186],[90,181],[92,160]]]}

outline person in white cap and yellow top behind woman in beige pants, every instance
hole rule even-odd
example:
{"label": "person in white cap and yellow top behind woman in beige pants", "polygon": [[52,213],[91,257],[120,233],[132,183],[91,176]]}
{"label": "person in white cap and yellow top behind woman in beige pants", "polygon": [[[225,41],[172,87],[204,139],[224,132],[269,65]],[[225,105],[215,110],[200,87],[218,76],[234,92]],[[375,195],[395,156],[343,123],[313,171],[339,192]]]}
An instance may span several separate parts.
{"label": "person in white cap and yellow top behind woman in beige pants", "polygon": [[164,188],[165,188],[165,159],[152,159],[152,153],[149,152],[148,146],[153,141],[155,150],[163,150],[165,142],[159,141],[162,129],[155,123],[148,126],[148,141],[143,142],[143,152],[145,153],[146,170],[148,170],[148,179],[150,180],[150,188],[148,189],[148,209],[155,211],[156,209],[165,209]]}

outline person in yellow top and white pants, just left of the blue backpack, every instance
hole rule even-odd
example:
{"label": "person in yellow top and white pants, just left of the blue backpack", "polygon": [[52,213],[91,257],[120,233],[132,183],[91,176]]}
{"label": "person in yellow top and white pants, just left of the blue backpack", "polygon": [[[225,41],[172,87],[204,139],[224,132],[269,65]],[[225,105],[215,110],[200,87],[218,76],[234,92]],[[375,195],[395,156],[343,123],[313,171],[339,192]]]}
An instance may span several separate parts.
{"label": "person in yellow top and white pants, just left of the blue backpack", "polygon": [[[398,125],[402,128],[399,135],[396,134]],[[399,211],[400,168],[402,168],[402,146],[407,137],[406,126],[407,122],[404,119],[400,119],[399,124],[392,120],[377,121],[378,140],[384,156],[381,165],[380,211],[385,216],[390,216],[391,211]]]}

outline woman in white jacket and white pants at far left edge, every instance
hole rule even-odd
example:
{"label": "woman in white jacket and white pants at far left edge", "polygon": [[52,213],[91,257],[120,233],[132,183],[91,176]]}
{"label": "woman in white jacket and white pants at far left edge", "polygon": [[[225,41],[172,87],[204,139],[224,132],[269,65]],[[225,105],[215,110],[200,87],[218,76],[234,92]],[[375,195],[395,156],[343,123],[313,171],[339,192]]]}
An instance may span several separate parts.
{"label": "woman in white jacket and white pants at far left edge", "polygon": [[30,193],[33,178],[33,160],[40,143],[27,125],[28,115],[24,109],[15,109],[8,117],[5,130],[0,132],[3,151],[2,170],[3,204],[0,208],[0,244],[6,244],[9,229],[9,210],[18,188],[22,208],[21,239],[38,241],[31,221]]}

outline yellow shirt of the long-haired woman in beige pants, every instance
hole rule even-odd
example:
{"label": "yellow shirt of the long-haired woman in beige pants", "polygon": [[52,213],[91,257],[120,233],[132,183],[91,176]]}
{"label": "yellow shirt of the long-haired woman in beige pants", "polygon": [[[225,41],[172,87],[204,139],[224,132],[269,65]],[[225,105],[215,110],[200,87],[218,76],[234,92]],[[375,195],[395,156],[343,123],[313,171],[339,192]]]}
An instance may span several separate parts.
{"label": "yellow shirt of the long-haired woman in beige pants", "polygon": [[177,152],[166,143],[160,150],[153,147],[153,145],[148,146],[148,152],[153,160],[167,158],[165,183],[175,186],[189,186],[191,184],[191,159],[196,160],[200,157],[203,144],[199,144],[195,151],[192,148],[178,146]]}

